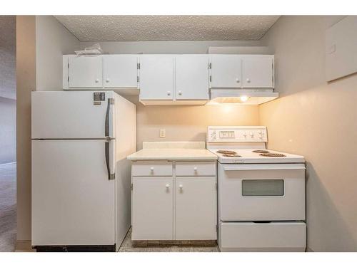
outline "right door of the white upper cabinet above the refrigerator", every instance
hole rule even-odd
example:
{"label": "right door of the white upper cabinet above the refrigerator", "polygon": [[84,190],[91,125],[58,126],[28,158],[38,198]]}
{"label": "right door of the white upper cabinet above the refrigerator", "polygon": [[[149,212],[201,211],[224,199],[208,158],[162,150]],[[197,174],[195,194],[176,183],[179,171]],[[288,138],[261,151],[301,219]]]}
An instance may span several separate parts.
{"label": "right door of the white upper cabinet above the refrigerator", "polygon": [[138,57],[136,55],[105,55],[104,87],[137,88]]}

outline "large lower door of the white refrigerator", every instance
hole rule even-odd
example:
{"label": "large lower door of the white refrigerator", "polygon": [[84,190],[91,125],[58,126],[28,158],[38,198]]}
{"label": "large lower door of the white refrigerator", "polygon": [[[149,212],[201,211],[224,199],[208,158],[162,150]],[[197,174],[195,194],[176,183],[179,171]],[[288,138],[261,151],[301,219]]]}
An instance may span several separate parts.
{"label": "large lower door of the white refrigerator", "polygon": [[32,141],[32,245],[114,245],[106,140]]}

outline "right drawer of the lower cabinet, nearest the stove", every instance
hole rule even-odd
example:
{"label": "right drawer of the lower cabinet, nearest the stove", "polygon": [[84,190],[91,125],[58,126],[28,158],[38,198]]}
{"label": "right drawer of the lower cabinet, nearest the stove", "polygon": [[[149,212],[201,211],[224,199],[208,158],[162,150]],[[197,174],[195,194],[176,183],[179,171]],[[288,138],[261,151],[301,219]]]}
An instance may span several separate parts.
{"label": "right drawer of the lower cabinet, nearest the stove", "polygon": [[176,162],[176,176],[216,176],[216,162]]}

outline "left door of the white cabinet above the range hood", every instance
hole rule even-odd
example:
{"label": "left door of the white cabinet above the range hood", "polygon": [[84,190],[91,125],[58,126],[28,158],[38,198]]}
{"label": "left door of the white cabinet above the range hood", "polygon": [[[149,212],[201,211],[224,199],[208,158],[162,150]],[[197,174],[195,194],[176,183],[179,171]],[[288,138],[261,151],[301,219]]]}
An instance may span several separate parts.
{"label": "left door of the white cabinet above the range hood", "polygon": [[211,88],[241,88],[241,56],[211,56]]}

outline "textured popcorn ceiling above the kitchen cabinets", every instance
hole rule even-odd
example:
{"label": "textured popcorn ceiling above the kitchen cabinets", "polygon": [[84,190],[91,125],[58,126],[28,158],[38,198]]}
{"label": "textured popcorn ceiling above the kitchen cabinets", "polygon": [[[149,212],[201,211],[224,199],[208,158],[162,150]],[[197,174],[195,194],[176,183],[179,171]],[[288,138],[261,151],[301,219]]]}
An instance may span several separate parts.
{"label": "textured popcorn ceiling above the kitchen cabinets", "polygon": [[56,16],[79,41],[258,40],[279,16]]}

